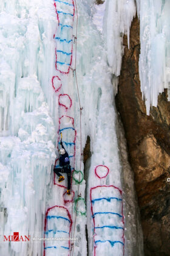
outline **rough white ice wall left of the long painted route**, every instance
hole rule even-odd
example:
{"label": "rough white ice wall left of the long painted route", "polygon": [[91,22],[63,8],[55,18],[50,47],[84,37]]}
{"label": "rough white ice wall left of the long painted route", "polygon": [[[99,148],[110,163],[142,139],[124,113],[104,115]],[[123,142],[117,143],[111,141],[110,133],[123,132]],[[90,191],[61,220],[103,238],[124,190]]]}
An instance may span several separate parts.
{"label": "rough white ice wall left of the long painted route", "polygon": [[[45,62],[53,49],[50,27],[55,23],[52,15],[49,18],[51,7],[51,1],[15,0],[2,1],[0,6],[2,240],[3,235],[8,237],[13,232],[31,238],[43,236],[42,216],[56,140],[46,101],[51,98],[53,102],[52,89],[47,86],[51,62],[47,58]],[[42,244],[32,239],[29,246],[27,242],[1,242],[1,255],[42,255]]]}

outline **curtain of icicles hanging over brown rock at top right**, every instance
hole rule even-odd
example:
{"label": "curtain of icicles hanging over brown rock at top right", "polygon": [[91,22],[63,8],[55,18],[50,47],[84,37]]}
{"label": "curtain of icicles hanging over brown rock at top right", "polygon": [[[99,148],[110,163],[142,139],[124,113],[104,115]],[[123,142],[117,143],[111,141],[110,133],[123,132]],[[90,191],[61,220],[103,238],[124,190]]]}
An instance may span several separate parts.
{"label": "curtain of icicles hanging over brown rock at top right", "polygon": [[150,107],[157,107],[158,94],[165,88],[168,88],[168,100],[170,99],[170,2],[137,0],[137,9],[140,18],[141,92],[149,115]]}

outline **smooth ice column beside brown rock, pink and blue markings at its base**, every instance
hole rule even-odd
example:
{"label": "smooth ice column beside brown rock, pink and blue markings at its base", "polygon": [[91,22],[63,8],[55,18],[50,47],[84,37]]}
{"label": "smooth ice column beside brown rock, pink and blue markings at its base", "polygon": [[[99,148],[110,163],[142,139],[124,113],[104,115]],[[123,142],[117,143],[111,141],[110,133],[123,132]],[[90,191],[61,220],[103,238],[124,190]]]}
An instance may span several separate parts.
{"label": "smooth ice column beside brown rock, pink and blue markings at its base", "polygon": [[[78,3],[80,16],[77,73],[78,81],[81,81],[81,102],[84,107],[83,135],[90,136],[92,151],[85,171],[89,255],[127,255],[126,246],[124,247],[126,226],[124,227],[122,213],[121,165],[118,157],[112,73],[107,64],[103,35],[97,31],[97,27],[100,31],[102,27],[102,17],[98,23],[98,13],[102,14],[104,8],[94,8],[92,2],[88,2],[89,5]],[[107,4],[106,2],[109,9]],[[112,18],[112,12],[109,15]],[[97,27],[90,23],[90,19]],[[107,22],[104,29],[109,34],[109,18]],[[110,27],[110,32],[112,29],[114,28]],[[119,58],[121,59],[121,55]],[[132,252],[132,247],[129,251]]]}

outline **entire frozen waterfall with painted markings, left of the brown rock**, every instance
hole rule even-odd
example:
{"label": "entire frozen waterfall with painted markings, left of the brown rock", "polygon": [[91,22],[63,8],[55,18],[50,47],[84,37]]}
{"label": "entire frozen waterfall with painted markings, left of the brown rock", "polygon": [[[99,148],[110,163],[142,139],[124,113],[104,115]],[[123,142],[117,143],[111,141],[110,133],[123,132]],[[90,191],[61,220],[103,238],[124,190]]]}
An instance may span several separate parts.
{"label": "entire frozen waterfall with painted markings, left of the brown rock", "polygon": [[[135,12],[134,0],[2,1],[1,255],[135,255],[124,235],[131,223],[111,83]],[[70,196],[66,176],[58,183],[53,173],[60,132],[72,167]],[[92,157],[84,168],[87,136]]]}

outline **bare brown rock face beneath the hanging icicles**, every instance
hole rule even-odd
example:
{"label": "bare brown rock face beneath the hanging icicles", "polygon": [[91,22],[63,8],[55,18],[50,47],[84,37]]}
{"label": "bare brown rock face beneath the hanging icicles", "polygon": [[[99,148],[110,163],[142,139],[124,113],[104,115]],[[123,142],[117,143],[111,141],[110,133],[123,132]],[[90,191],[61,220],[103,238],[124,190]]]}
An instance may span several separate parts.
{"label": "bare brown rock face beneath the hanging icicles", "polygon": [[[170,102],[166,91],[150,116],[141,97],[138,59],[138,18],[131,26],[130,49],[124,37],[124,56],[116,104],[123,122],[129,162],[135,174],[146,256],[170,255]],[[169,179],[170,180],[170,179]]]}

